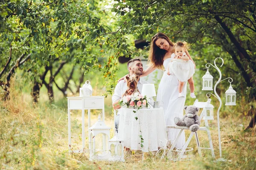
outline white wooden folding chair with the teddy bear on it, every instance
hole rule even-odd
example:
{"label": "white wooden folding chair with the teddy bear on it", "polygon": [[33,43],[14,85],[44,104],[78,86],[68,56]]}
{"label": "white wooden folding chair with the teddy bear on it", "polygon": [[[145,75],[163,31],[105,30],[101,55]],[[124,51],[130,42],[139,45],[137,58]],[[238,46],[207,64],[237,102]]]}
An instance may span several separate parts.
{"label": "white wooden folding chair with the teddy bear on it", "polygon": [[[206,105],[207,102],[198,102],[198,99],[195,100],[195,103],[194,103],[194,106],[198,107],[198,108],[204,108],[204,106]],[[199,116],[199,120],[201,122],[201,119],[203,118],[204,114],[203,112],[201,112],[200,116]],[[189,135],[189,138],[188,140],[186,141],[185,145],[183,146],[183,149],[182,149],[182,152],[180,153],[180,158],[181,156],[183,156],[189,142],[191,141],[193,135],[195,134],[195,140],[196,140],[196,144],[197,144],[197,147],[198,147],[198,153],[199,153],[199,156],[201,156],[201,150],[202,149],[208,149],[208,150],[211,150],[211,153],[212,153],[212,157],[215,158],[215,154],[214,154],[214,150],[213,150],[213,144],[212,144],[212,138],[211,138],[211,134],[210,134],[210,130],[209,130],[209,124],[208,124],[208,120],[204,120],[205,122],[205,126],[204,127],[199,127],[198,131],[200,130],[203,130],[203,131],[207,131],[207,135],[208,135],[208,140],[209,140],[209,148],[206,148],[206,147],[200,147],[200,143],[199,143],[199,139],[198,139],[198,131],[196,132],[191,132],[190,135]],[[175,141],[173,142],[172,144],[172,147],[170,148],[170,152],[172,152],[172,150],[174,149],[175,145],[177,144],[179,138],[180,138],[180,135],[181,133],[183,132],[183,130],[189,130],[189,127],[186,127],[186,126],[168,126],[167,125],[167,128],[174,128],[174,129],[180,129],[180,132],[178,133]],[[190,130],[189,130],[190,131]]]}

